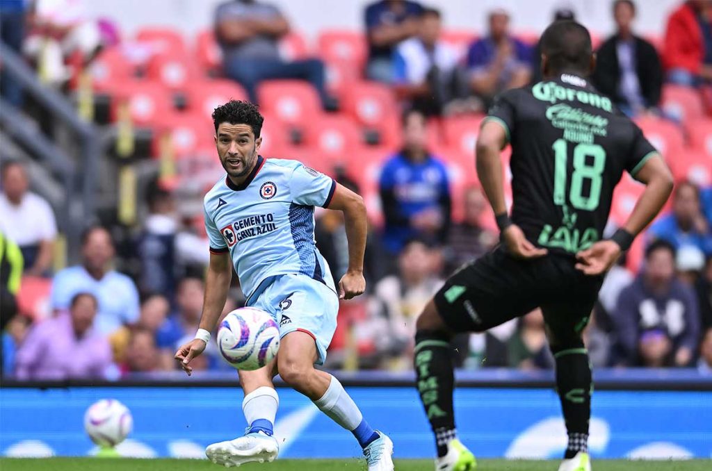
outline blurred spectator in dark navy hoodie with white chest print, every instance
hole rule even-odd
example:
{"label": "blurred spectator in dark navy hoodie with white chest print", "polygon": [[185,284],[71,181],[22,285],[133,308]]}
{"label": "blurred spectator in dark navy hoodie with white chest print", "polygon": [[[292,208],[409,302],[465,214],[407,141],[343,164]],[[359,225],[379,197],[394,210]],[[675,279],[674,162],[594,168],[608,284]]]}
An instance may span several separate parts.
{"label": "blurred spectator in dark navy hoodie with white chest print", "polygon": [[700,318],[692,289],[675,276],[675,249],[656,240],[645,265],[621,292],[613,320],[617,364],[689,366],[696,353]]}

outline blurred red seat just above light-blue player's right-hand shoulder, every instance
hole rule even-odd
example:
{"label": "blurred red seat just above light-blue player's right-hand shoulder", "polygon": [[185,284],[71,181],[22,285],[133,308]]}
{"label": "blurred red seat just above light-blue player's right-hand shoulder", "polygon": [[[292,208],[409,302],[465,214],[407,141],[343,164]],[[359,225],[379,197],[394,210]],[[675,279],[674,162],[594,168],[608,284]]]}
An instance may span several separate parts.
{"label": "blurred red seat just above light-blue player's right-hand shoulder", "polygon": [[352,159],[352,153],[362,145],[358,127],[343,116],[312,120],[305,128],[304,144],[340,162]]}

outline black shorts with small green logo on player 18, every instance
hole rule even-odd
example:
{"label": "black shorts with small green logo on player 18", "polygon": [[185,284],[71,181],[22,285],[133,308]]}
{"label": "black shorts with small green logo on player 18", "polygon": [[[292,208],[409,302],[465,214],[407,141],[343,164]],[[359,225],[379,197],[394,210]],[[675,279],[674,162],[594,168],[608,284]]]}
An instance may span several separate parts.
{"label": "black shorts with small green logo on player 18", "polygon": [[498,246],[449,277],[435,305],[455,332],[482,332],[540,307],[552,343],[580,337],[603,277],[584,275],[574,265],[565,255],[517,260]]}

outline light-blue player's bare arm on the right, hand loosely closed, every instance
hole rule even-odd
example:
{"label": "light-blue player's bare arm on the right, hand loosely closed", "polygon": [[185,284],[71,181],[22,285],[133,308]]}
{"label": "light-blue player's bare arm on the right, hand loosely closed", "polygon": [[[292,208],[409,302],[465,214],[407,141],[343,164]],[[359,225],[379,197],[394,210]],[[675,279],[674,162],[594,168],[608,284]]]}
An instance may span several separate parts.
{"label": "light-blue player's bare arm on the right, hand loosely closed", "polygon": [[360,195],[345,186],[336,184],[329,209],[343,211],[346,238],[349,244],[349,268],[339,281],[339,299],[350,300],[366,290],[363,277],[363,258],[366,251],[368,222],[366,206]]}

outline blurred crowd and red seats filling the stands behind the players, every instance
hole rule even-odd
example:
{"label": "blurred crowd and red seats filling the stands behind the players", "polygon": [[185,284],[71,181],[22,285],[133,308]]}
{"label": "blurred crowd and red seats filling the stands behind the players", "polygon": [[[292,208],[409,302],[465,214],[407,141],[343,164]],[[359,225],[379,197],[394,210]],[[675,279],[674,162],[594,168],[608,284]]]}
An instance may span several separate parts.
{"label": "blurred crowd and red seats filling the stands behind the players", "polygon": [[[540,80],[536,35],[516,31],[503,9],[486,12],[488,31],[478,35],[449,30],[442,11],[419,1],[382,0],[365,9],[364,31],[323,31],[310,55],[275,6],[232,0],[190,51],[177,31],[121,38],[111,21],[88,18],[81,1],[29,5],[0,3],[2,41],[80,109],[89,78],[95,97],[110,103],[101,118],[102,101],[93,102],[97,126],[129,122],[150,131],[145,155],[122,140],[137,134],[119,132],[117,154],[162,164],[140,192],[142,217],[127,224],[106,216],[85,228],[79,263],[63,268],[56,254],[64,221],[30,191],[25,165],[3,162],[4,376],[178,370],[172,357],[196,332],[209,257],[200,196],[222,171],[209,113],[229,98],[261,106],[266,157],[301,159],[365,196],[367,292],[342,303],[327,366],[412,368],[414,321],[425,302],[453,270],[498,243],[473,144],[495,95]],[[593,35],[591,80],[637,120],[678,184],[665,213],[609,272],[585,339],[597,367],[712,372],[712,1],[681,2],[658,36],[635,32],[638,6],[648,5],[612,1],[616,31],[603,41]],[[554,21],[574,17],[561,10]],[[33,46],[38,41],[53,46]],[[1,85],[3,97],[22,106],[17,84],[3,75]],[[173,171],[164,170],[166,159]],[[189,188],[193,195],[181,193]],[[640,193],[624,176],[610,233]],[[341,213],[318,211],[315,227],[338,279],[347,265]],[[224,315],[243,304],[234,280]],[[454,344],[465,369],[553,366],[539,310]],[[193,368],[229,371],[216,353],[213,341]]]}

